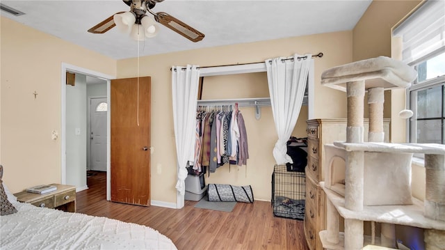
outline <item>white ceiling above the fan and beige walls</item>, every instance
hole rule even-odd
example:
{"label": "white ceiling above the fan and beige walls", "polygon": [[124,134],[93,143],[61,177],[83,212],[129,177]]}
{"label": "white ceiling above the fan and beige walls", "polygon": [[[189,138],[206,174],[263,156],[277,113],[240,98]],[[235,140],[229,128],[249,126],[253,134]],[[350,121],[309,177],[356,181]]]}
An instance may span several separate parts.
{"label": "white ceiling above the fan and beige walls", "polygon": [[104,34],[87,32],[114,13],[129,10],[129,6],[121,0],[2,0],[1,3],[25,13],[15,17],[0,11],[4,17],[111,58],[122,59],[138,56],[138,47],[139,55],[147,56],[352,30],[371,0],[165,0],[156,4],[154,12],[169,13],[204,33],[205,38],[200,42],[191,42],[160,25],[158,36],[139,42],[139,45],[116,28]]}

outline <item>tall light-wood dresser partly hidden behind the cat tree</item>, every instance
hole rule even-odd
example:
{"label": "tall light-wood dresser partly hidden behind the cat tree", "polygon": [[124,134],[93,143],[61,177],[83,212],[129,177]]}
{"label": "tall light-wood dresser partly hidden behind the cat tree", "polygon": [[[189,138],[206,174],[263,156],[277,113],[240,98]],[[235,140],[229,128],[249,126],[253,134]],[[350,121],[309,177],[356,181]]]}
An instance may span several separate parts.
{"label": "tall light-wood dresser partly hidden behind the cat tree", "polygon": [[[385,141],[389,141],[389,120],[384,119]],[[364,141],[368,141],[369,120],[364,119]],[[305,237],[311,250],[323,249],[318,232],[326,228],[325,193],[319,183],[325,180],[325,144],[346,141],[347,119],[307,120],[307,166]]]}

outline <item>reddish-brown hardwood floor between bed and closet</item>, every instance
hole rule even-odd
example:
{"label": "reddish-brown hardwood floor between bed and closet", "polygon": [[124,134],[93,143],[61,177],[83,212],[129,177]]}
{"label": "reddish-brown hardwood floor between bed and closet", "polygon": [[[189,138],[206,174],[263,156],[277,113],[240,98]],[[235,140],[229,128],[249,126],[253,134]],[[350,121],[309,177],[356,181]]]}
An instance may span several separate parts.
{"label": "reddish-brown hardwood floor between bed and closet", "polygon": [[270,202],[236,203],[232,212],[194,208],[177,210],[106,201],[106,174],[91,171],[89,189],[76,194],[77,212],[142,224],[169,237],[180,250],[307,250],[303,221],[274,217]]}

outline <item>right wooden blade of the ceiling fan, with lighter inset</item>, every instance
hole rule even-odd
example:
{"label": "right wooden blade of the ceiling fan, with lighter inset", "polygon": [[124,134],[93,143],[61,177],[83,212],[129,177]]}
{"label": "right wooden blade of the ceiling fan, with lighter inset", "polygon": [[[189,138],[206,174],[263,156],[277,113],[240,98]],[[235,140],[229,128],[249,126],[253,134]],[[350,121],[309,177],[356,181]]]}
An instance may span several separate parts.
{"label": "right wooden blade of the ceiling fan, with lighter inset", "polygon": [[172,31],[181,34],[182,36],[184,36],[188,40],[191,40],[192,42],[198,42],[202,40],[202,38],[204,38],[203,33],[197,31],[196,29],[193,29],[191,26],[188,26],[188,24],[185,24],[179,19],[172,17],[168,13],[165,12],[156,13],[154,19],[156,19],[156,22],[159,22],[160,24],[168,27]]}

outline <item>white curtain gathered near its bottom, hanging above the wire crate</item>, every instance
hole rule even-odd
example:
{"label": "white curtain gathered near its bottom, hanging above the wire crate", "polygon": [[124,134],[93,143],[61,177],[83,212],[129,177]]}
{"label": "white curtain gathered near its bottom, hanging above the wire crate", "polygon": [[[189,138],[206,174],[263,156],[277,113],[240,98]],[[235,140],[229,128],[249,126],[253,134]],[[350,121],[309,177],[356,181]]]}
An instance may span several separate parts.
{"label": "white curtain gathered near its bottom, hanging above the wire crate", "polygon": [[[286,142],[297,123],[309,70],[313,67],[314,59],[311,54],[304,56],[295,54],[291,58],[279,57],[266,60],[270,104],[278,135],[273,148],[273,157],[277,164],[293,163],[291,157],[287,155]],[[310,71],[313,72],[313,70]]]}

